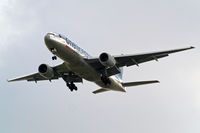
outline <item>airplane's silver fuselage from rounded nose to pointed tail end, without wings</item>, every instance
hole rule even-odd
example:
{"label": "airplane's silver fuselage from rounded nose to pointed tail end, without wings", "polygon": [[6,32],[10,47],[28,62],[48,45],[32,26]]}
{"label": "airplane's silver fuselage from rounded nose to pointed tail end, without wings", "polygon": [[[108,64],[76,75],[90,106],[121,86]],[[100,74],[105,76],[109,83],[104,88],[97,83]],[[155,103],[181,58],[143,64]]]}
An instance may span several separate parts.
{"label": "airplane's silver fuselage from rounded nose to pointed tail end, without wings", "polygon": [[125,92],[125,88],[122,86],[121,82],[114,76],[109,77],[111,83],[105,85],[101,80],[102,75],[84,60],[86,58],[91,58],[91,56],[67,37],[56,33],[47,33],[44,40],[49,51],[61,58],[66,68],[79,77],[95,82],[100,87],[108,90]]}

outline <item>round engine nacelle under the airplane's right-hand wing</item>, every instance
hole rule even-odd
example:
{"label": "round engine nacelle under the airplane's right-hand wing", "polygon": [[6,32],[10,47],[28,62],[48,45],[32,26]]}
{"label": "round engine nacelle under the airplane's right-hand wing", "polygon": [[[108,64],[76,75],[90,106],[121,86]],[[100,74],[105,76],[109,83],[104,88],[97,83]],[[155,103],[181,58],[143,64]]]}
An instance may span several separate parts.
{"label": "round engine nacelle under the airplane's right-hand wing", "polygon": [[100,54],[99,61],[105,67],[113,67],[116,64],[115,58],[108,53]]}

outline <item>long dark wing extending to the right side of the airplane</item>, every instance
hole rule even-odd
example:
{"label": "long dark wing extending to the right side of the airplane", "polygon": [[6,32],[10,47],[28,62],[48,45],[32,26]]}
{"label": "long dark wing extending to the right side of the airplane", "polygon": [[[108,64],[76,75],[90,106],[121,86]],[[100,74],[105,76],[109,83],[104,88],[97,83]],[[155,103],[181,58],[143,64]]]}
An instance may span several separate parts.
{"label": "long dark wing extending to the right side of the airplane", "polygon": [[[152,53],[145,53],[145,54],[135,54],[135,55],[120,55],[114,56],[116,60],[116,67],[123,67],[123,66],[132,66],[132,65],[139,65],[140,63],[144,63],[151,60],[158,60],[163,57],[167,57],[169,54],[193,49],[194,47],[187,47],[181,49],[174,49],[174,50],[167,50],[167,51],[160,51],[160,52],[152,52]],[[101,72],[102,69],[105,67],[99,62],[99,58],[92,58],[86,59],[93,68],[97,71]],[[111,75],[117,74],[116,72],[111,71]]]}

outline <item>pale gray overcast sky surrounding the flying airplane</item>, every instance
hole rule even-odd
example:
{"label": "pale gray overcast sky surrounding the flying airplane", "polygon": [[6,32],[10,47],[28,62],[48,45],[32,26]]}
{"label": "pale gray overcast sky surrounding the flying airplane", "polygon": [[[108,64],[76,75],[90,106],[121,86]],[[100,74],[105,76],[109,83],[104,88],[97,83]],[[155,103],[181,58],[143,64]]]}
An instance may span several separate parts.
{"label": "pale gray overcast sky surrounding the flying airplane", "polygon": [[[1,0],[1,133],[199,133],[199,0]],[[64,81],[7,83],[51,66],[47,32],[65,34],[93,56],[182,48],[194,50],[125,68],[124,81],[160,84],[127,93],[93,95],[84,81],[71,93]]]}

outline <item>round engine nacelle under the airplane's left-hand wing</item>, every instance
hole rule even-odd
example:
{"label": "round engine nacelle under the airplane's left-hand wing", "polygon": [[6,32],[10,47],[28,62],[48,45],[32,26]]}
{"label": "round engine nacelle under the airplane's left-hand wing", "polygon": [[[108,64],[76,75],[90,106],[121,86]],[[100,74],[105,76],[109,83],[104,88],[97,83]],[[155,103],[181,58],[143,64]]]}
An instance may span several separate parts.
{"label": "round engine nacelle under the airplane's left-hand wing", "polygon": [[38,68],[38,71],[41,76],[43,76],[47,79],[51,79],[54,77],[53,69],[47,64],[41,64]]}

